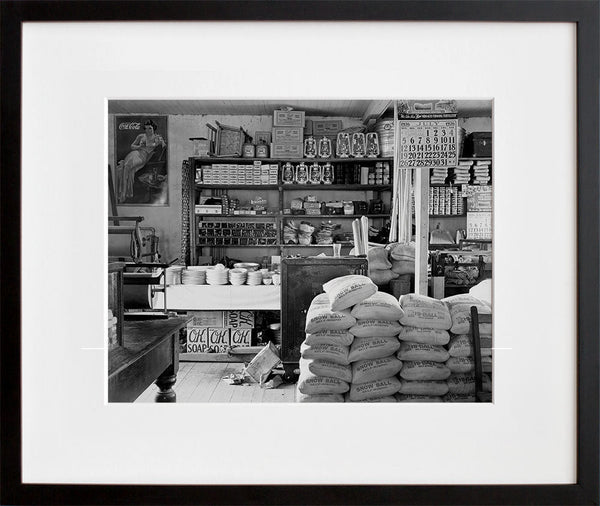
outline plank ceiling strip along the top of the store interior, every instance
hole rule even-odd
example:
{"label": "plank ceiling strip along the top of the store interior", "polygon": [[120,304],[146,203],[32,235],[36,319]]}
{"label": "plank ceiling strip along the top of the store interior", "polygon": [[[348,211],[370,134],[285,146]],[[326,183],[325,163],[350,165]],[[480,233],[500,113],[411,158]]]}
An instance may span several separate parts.
{"label": "plank ceiling strip along the top of the store interior", "polygon": [[[491,116],[490,100],[459,100],[459,116]],[[307,116],[343,116],[363,121],[376,119],[391,100],[109,100],[109,114],[249,115],[273,114],[292,107]]]}

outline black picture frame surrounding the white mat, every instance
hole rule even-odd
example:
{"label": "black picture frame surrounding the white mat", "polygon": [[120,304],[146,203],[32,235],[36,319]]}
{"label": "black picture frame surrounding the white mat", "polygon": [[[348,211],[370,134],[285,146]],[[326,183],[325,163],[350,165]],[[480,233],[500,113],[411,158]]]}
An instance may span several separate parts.
{"label": "black picture frame surrounding the white mat", "polygon": [[[597,0],[4,1],[1,6],[1,504],[599,504]],[[134,486],[21,483],[21,34],[28,21],[494,21],[577,24],[577,481],[570,485]],[[10,318],[7,317],[10,315]],[[285,460],[285,459],[284,459]],[[285,465],[285,462],[282,462]]]}

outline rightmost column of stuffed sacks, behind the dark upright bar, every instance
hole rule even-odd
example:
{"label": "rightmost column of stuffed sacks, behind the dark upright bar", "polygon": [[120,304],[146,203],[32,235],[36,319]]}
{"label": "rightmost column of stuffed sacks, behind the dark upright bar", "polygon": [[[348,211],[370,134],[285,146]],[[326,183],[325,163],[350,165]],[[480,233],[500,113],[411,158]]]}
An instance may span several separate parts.
{"label": "rightmost column of stuffed sacks, behind the dark upright bar", "polygon": [[[491,314],[492,309],[486,302],[469,294],[453,295],[442,299],[450,311],[452,327],[448,344],[449,358],[446,366],[451,371],[447,379],[447,402],[475,402],[475,360],[471,339],[471,306],[479,314]],[[490,373],[492,372],[492,328],[489,323],[479,325],[482,361],[482,387],[485,392],[492,391]],[[485,360],[484,360],[485,359]]]}

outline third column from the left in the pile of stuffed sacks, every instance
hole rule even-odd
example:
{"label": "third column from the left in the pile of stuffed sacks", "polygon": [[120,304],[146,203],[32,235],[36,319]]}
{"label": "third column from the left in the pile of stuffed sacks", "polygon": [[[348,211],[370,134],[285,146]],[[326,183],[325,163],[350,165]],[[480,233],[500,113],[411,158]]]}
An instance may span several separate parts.
{"label": "third column from the left in the pile of stuffed sacks", "polygon": [[451,371],[444,348],[450,341],[452,319],[442,301],[414,293],[400,297],[404,315],[398,336],[400,370],[399,402],[443,402]]}

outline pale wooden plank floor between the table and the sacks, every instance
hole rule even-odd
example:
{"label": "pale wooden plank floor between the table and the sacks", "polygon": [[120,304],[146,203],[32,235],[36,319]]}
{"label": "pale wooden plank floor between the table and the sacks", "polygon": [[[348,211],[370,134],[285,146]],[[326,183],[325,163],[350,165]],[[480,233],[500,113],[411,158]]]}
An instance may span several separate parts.
{"label": "pale wooden plank floor between the table and the sacks", "polygon": [[[239,363],[180,362],[177,382],[173,387],[177,402],[294,402],[295,385],[282,384],[264,389],[256,383],[229,385],[224,376],[239,373]],[[151,385],[135,402],[154,402],[156,385]]]}

